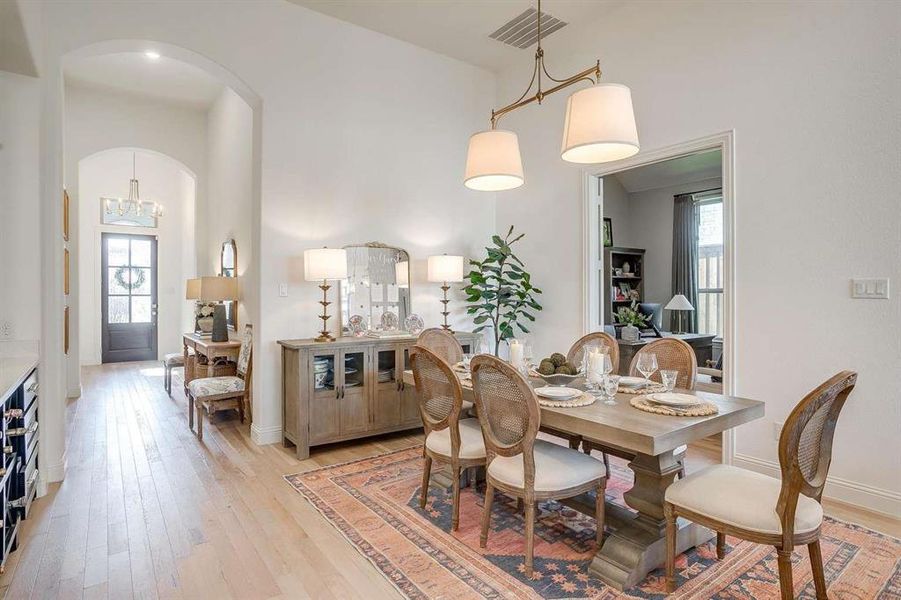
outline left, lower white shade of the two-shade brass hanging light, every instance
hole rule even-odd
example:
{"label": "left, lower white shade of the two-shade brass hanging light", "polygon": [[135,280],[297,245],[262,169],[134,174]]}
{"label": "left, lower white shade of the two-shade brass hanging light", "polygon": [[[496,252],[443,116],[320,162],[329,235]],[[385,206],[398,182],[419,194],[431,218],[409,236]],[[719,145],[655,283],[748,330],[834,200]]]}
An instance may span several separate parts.
{"label": "left, lower white shade of the two-shade brass hanging light", "polygon": [[512,131],[491,129],[469,138],[463,185],[483,192],[512,190],[523,184],[519,138]]}

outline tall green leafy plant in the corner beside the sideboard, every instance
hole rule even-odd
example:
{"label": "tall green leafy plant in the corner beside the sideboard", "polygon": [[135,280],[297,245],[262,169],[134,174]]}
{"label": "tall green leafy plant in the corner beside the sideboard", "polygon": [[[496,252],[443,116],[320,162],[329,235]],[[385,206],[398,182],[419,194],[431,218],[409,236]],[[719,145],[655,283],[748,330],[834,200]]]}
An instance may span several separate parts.
{"label": "tall green leafy plant in the corner beside the sideboard", "polygon": [[469,261],[469,285],[463,288],[469,303],[467,312],[475,315],[475,332],[492,329],[495,356],[501,342],[516,337],[517,330],[529,333],[525,322],[534,322],[533,313],[541,310],[535,299],[541,290],[532,285],[532,276],[512,250],[523,236],[521,233],[514,237],[511,226],[503,238],[492,236],[484,260]]}

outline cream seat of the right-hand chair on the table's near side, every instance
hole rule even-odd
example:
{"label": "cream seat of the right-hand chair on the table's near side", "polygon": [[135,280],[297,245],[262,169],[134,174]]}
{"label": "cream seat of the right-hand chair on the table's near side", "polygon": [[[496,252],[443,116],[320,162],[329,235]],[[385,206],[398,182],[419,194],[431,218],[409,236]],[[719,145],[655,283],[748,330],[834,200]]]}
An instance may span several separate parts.
{"label": "cream seat of the right-hand chair on the table's near side", "polygon": [[[566,490],[607,476],[604,463],[581,452],[545,440],[535,440],[535,491]],[[513,488],[525,488],[522,454],[498,456],[488,465],[488,474]]]}

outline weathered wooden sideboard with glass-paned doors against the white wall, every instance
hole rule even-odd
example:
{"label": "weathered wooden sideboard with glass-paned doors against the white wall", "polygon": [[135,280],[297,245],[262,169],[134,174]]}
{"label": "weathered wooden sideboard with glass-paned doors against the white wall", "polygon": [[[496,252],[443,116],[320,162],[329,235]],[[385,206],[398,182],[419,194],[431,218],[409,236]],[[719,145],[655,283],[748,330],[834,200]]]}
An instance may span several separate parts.
{"label": "weathered wooden sideboard with glass-paned doors against the white wall", "polygon": [[[455,333],[464,352],[481,336]],[[416,393],[403,381],[415,336],[279,340],[285,445],[310,447],[422,427]]]}

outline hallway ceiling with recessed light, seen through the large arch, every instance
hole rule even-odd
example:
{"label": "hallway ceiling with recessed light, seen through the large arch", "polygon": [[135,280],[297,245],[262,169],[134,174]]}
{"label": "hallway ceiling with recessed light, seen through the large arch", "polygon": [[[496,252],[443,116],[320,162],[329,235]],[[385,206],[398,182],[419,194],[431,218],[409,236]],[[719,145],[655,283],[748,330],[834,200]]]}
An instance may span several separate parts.
{"label": "hallway ceiling with recessed light, seen through the large arch", "polygon": [[66,82],[86,87],[139,94],[150,98],[207,108],[224,86],[205,71],[180,60],[143,52],[120,52],[79,58],[67,63]]}

